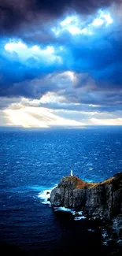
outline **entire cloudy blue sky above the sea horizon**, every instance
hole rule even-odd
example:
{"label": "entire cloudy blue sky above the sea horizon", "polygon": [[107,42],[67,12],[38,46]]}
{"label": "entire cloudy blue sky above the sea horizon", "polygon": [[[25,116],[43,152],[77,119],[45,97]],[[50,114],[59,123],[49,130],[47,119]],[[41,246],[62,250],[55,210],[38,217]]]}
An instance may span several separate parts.
{"label": "entire cloudy blue sky above the sea horizon", "polygon": [[122,125],[122,0],[0,0],[0,126]]}

